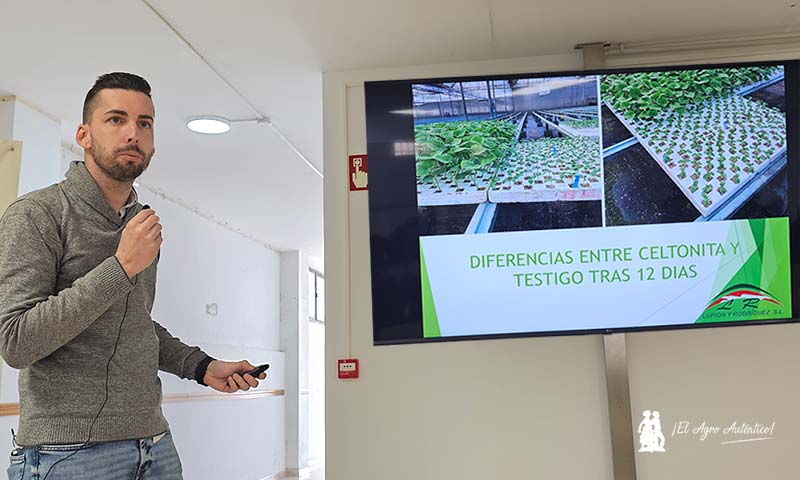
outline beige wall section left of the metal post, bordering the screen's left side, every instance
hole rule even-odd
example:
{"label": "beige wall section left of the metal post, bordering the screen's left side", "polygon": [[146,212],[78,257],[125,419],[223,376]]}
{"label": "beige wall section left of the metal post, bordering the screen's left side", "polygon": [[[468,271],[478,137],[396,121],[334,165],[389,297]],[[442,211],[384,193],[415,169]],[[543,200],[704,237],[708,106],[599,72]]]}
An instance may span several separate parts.
{"label": "beige wall section left of the metal post, bordering the screen's left side", "polygon": [[[347,191],[347,155],[366,153],[363,81],[580,65],[563,55],[325,74],[328,480],[612,478],[601,338],[373,346],[367,195]],[[345,382],[335,365],[350,342],[362,372]]]}

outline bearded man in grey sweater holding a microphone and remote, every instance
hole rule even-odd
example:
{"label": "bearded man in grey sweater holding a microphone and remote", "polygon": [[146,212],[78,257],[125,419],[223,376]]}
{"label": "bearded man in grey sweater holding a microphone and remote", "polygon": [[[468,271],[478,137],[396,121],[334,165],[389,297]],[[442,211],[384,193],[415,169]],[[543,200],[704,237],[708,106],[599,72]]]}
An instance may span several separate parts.
{"label": "bearded man in grey sweater holding a microphone and remote", "polygon": [[76,135],[84,162],[0,219],[0,355],[20,369],[10,479],[180,479],[158,370],[226,393],[258,385],[249,362],[212,359],[150,317],[161,224],[132,185],[154,117],[143,78],[99,77]]}

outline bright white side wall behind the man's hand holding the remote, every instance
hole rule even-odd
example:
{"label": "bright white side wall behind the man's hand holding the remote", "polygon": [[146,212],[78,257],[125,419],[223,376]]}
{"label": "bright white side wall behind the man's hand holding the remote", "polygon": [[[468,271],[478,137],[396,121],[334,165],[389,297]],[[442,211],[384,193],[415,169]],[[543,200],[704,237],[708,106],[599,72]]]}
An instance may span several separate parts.
{"label": "bright white side wall behind the man's hand holding the remote", "polygon": [[[216,358],[270,363],[259,389],[283,389],[280,255],[144,187],[138,191],[164,226],[153,318]],[[212,303],[216,316],[206,313]],[[165,395],[209,391],[170,374],[160,376]],[[164,412],[185,478],[255,480],[286,468],[283,396],[167,404]],[[258,455],[246,461],[254,452]]]}

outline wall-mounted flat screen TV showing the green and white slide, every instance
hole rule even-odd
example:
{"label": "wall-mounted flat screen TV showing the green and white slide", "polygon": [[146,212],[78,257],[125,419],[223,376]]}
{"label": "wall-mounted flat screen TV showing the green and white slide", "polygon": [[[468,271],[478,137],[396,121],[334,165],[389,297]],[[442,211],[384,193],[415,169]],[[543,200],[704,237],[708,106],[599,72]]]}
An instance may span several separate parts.
{"label": "wall-mounted flat screen TV showing the green and white slide", "polygon": [[375,344],[796,319],[799,67],[367,82]]}

